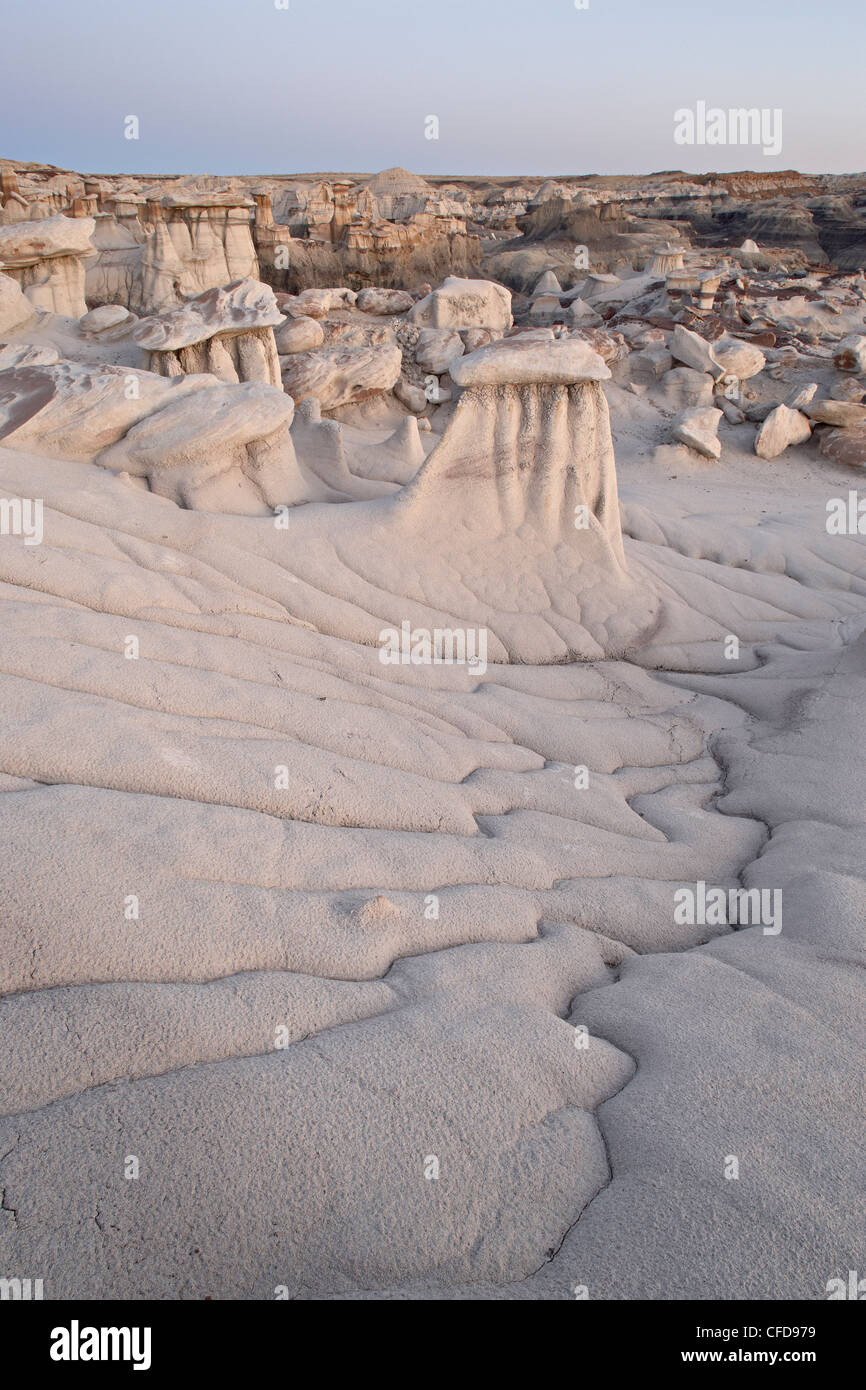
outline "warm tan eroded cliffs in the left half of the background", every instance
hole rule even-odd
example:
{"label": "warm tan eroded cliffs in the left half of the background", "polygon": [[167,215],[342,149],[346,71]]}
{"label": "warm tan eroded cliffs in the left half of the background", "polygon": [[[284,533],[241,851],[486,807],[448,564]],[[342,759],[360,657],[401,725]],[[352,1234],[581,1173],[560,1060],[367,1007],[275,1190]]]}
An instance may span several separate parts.
{"label": "warm tan eroded cliffs in the left half of the background", "polygon": [[[161,313],[235,279],[297,293],[403,288],[481,268],[467,190],[455,199],[403,170],[373,179],[83,179],[3,167],[0,227],[64,213],[95,221],[90,307]],[[211,186],[214,182],[218,186]]]}

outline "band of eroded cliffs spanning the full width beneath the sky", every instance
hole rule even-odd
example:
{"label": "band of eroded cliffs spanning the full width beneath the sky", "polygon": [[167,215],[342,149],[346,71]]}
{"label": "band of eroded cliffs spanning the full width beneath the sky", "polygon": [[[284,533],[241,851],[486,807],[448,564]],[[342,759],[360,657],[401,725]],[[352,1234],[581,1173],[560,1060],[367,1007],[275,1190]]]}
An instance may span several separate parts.
{"label": "band of eroded cliffs spanning the full width beneath the sky", "polygon": [[[866,177],[790,170],[149,179],[0,161],[0,228],[58,214],[95,224],[88,307],[138,314],[245,278],[296,295],[329,285],[416,291],[448,275],[485,275],[530,295],[545,270],[569,288],[587,268],[639,268],[662,242],[723,250],[752,239],[803,264],[866,264]],[[585,247],[588,267],[574,264],[575,247]]]}

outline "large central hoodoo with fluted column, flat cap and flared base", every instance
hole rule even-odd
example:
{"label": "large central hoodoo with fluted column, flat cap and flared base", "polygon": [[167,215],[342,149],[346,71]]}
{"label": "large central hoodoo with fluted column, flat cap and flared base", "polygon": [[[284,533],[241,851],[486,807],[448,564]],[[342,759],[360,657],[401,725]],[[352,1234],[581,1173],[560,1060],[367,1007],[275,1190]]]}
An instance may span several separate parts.
{"label": "large central hoodoo with fluted column, flat cap and flared base", "polygon": [[350,570],[346,594],[367,614],[316,621],[356,641],[375,641],[379,620],[484,626],[495,662],[621,655],[657,599],[626,569],[609,368],[580,338],[517,335],[450,371],[463,395],[410,484],[297,516],[295,571],[318,588]]}

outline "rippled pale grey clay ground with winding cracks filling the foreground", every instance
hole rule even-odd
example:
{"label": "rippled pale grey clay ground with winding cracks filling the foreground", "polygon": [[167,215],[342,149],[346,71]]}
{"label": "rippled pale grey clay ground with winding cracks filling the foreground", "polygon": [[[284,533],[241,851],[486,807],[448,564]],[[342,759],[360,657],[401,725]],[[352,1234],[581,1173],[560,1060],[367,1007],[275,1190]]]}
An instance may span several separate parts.
{"label": "rippled pale grey clay ground with winding cracks filling the foreground", "polygon": [[[624,489],[634,659],[480,676],[342,635],[381,614],[292,525],[8,450],[0,484],[46,499],[40,546],[0,538],[1,1273],[819,1298],[862,1266],[866,567],[817,493],[759,524]],[[783,930],[677,922],[699,881],[780,891]]]}

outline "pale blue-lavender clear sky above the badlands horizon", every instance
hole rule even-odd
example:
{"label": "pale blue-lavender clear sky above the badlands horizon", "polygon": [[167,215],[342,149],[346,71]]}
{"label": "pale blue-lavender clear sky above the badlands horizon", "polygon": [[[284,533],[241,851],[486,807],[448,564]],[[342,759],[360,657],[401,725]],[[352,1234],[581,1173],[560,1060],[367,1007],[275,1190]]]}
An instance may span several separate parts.
{"label": "pale blue-lavender clear sky above the badlands horizon", "polygon": [[[4,0],[0,156],[106,174],[866,168],[866,0],[282,3]],[[674,143],[698,101],[780,108],[780,154]]]}

